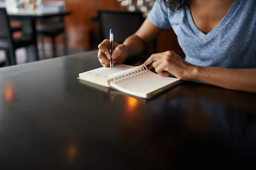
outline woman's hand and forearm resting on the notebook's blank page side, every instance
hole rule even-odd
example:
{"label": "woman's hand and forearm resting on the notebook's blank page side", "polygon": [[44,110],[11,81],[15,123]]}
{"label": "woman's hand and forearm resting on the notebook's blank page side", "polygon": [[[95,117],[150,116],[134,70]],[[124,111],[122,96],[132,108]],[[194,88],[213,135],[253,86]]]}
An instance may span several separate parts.
{"label": "woman's hand and forearm resting on the notebook's blank page side", "polygon": [[184,81],[198,81],[231,90],[256,93],[256,68],[196,66],[172,51],[153,54],[144,65],[153,66],[161,76],[167,77],[171,73]]}

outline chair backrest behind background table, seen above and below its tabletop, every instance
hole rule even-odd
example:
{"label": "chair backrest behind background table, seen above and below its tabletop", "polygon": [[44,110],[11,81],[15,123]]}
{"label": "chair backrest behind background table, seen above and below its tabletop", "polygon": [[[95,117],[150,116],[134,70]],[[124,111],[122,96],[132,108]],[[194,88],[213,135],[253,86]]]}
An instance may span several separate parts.
{"label": "chair backrest behind background table, seen above and below its tabletop", "polygon": [[[64,12],[65,11],[65,2],[64,1],[51,1],[51,2],[43,2],[41,3],[41,7],[45,10],[56,11],[56,12]],[[40,23],[62,23],[64,24],[64,17],[49,17],[40,19]]]}

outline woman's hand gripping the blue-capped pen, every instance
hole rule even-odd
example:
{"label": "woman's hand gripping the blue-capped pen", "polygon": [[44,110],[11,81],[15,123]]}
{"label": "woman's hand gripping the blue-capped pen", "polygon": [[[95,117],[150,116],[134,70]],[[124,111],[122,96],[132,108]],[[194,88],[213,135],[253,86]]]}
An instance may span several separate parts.
{"label": "woman's hand gripping the blue-capped pen", "polygon": [[[104,40],[102,43],[98,46],[99,52],[98,52],[98,59],[99,62],[104,67],[110,67],[110,59],[111,59],[111,53],[110,53],[110,40]],[[124,44],[118,44],[114,42],[113,44],[113,64],[122,64],[125,59],[128,56],[127,47]]]}

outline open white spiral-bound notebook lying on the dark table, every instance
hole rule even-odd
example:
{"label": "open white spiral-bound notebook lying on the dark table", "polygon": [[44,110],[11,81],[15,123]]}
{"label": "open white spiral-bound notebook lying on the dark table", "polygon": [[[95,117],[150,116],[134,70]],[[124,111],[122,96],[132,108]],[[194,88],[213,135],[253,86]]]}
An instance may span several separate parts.
{"label": "open white spiral-bound notebook lying on the dark table", "polygon": [[114,65],[112,71],[105,67],[87,71],[79,74],[78,79],[145,99],[181,82],[177,78],[161,77],[148,70],[145,65],[134,67],[124,64]]}

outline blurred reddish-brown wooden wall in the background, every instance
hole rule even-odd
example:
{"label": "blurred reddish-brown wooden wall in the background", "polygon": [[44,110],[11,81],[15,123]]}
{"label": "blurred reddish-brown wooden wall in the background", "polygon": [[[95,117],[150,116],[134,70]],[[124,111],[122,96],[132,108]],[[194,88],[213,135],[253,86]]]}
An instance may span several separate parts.
{"label": "blurred reddish-brown wooden wall in the background", "polygon": [[[54,0],[43,0],[54,1]],[[66,17],[66,28],[68,45],[71,48],[90,49],[90,31],[97,34],[97,22],[92,21],[92,17],[97,14],[99,9],[119,9],[116,0],[64,0],[66,10],[72,14]],[[46,40],[49,42],[49,40]],[[61,37],[58,38],[61,45]],[[157,38],[157,52],[164,51],[182,52],[177,43],[177,37],[172,30],[165,30]]]}

